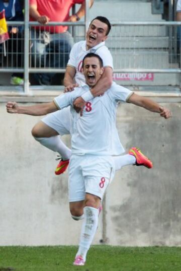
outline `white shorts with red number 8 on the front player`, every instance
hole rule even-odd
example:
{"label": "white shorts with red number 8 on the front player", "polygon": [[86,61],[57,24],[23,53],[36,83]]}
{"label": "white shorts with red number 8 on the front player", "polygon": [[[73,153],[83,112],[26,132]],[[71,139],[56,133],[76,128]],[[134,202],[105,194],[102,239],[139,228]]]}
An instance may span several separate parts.
{"label": "white shorts with red number 8 on the front player", "polygon": [[85,199],[85,193],[101,199],[111,183],[115,168],[111,156],[72,155],[69,163],[69,202]]}

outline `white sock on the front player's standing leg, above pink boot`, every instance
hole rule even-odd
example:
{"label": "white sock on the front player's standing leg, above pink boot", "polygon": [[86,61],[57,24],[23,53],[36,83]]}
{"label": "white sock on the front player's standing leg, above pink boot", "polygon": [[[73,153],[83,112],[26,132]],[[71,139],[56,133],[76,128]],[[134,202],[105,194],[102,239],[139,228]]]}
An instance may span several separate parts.
{"label": "white sock on the front player's standing leg, above pink boot", "polygon": [[86,254],[91,246],[98,227],[99,210],[93,207],[84,207],[84,220],[82,223],[80,242],[76,256],[82,256],[83,260],[86,259]]}

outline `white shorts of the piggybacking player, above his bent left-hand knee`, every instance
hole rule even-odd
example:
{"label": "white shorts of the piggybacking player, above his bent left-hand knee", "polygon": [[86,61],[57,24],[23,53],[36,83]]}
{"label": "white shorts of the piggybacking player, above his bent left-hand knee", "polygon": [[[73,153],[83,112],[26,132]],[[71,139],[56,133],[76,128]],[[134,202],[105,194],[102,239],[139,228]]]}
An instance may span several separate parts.
{"label": "white shorts of the piggybacking player, above his bent left-hand knee", "polygon": [[70,106],[53,112],[41,120],[60,135],[71,133]]}

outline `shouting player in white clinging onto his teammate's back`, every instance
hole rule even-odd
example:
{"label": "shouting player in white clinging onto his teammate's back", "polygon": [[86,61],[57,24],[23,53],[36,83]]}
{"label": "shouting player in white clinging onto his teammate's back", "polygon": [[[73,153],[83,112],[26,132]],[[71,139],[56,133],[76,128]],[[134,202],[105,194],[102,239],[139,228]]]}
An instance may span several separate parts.
{"label": "shouting player in white clinging onto his teammate's back", "polygon": [[[107,91],[113,82],[113,58],[105,45],[105,40],[111,30],[111,24],[105,17],[96,17],[87,30],[86,41],[80,41],[74,44],[70,52],[70,58],[66,67],[64,78],[65,91],[73,90],[75,86],[83,86],[85,78],[82,73],[82,59],[88,52],[95,52],[101,56],[104,64],[104,74],[100,81],[91,90],[91,94],[85,93],[74,101],[74,108],[79,110],[83,108],[90,97],[99,96]],[[71,150],[65,146],[61,138],[57,135],[71,134],[71,117],[69,108],[52,113],[39,121],[32,129],[34,138],[42,145],[60,154],[60,160],[55,174],[63,173],[69,163]],[[116,129],[116,115],[113,116],[112,133],[112,151],[116,169],[124,165],[144,165],[152,168],[152,162],[145,157],[138,149],[132,148],[129,154],[122,155],[124,148],[120,143],[119,135]],[[110,139],[111,140],[111,139]]]}

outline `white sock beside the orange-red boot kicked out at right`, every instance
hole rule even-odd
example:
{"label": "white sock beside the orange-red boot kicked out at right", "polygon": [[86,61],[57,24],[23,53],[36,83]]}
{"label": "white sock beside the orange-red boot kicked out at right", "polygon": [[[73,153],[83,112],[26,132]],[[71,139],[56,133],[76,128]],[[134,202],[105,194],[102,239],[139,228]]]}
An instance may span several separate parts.
{"label": "white sock beside the orange-red boot kicked out at right", "polygon": [[119,170],[124,166],[135,165],[136,158],[133,155],[125,154],[121,156],[113,156],[113,161],[115,163],[115,169]]}

